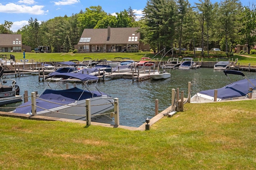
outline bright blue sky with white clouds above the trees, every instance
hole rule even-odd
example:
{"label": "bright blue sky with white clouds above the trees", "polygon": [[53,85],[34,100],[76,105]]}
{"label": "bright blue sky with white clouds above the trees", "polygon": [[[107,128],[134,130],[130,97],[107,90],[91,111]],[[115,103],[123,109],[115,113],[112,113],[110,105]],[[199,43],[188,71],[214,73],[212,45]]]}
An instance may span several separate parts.
{"label": "bright blue sky with white clouds above the trees", "polygon": [[[147,0],[0,0],[0,24],[4,21],[13,22],[12,31],[17,31],[23,25],[28,24],[28,20],[36,18],[38,21],[47,21],[58,16],[72,16],[80,10],[90,6],[101,6],[106,13],[127,10],[131,7],[137,15],[142,16],[142,10],[146,6]],[[189,0],[194,6],[194,2],[199,0]],[[212,0],[212,3],[220,0]],[[256,4],[256,0],[240,0],[244,6]]]}

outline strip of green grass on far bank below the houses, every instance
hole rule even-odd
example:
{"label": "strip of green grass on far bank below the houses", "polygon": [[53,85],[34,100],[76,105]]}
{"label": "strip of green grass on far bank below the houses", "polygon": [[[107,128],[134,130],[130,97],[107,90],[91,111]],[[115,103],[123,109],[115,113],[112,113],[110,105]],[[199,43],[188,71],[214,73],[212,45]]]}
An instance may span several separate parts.
{"label": "strip of green grass on far bank below the houses", "polygon": [[[188,51],[190,53],[193,53],[193,51]],[[186,52],[187,53],[187,52]],[[205,52],[206,53],[206,52]],[[10,59],[10,55],[14,55],[15,59],[17,61],[20,61],[20,59],[23,59],[24,55],[23,53],[0,53],[0,55],[6,55],[7,59]],[[122,58],[130,58],[134,61],[140,61],[140,59],[146,55],[146,57],[154,57],[154,53],[152,52],[140,52],[140,53],[25,53],[25,59],[33,59],[34,61],[70,61],[70,60],[78,60],[83,61],[84,57],[90,57],[93,60],[100,60],[100,59],[107,59],[107,60],[114,60],[115,57],[122,57]],[[241,65],[248,65],[249,63],[252,66],[256,66],[256,55],[247,55],[249,57],[244,57],[241,55],[234,55],[230,57],[230,59],[235,61],[236,58],[238,58],[238,62]],[[154,57],[156,60],[160,59],[162,57],[162,54],[157,55]],[[163,59],[163,61],[167,61],[171,55],[166,55]],[[176,57],[176,55],[174,55]],[[225,57],[225,56],[223,56]],[[201,61],[202,57],[197,57],[195,60]],[[204,57],[203,61],[216,61],[216,58],[214,57]]]}

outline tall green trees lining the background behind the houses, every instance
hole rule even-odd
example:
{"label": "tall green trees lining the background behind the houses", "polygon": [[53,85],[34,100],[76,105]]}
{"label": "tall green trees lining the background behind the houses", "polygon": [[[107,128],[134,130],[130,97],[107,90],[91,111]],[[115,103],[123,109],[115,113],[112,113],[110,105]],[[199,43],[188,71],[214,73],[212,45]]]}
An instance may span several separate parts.
{"label": "tall green trees lining the background behind the houses", "polygon": [[[24,45],[38,47],[49,45],[52,52],[68,52],[74,49],[85,28],[140,27],[141,41],[152,49],[174,47],[193,50],[202,47],[218,47],[231,52],[237,44],[250,47],[256,42],[256,8],[254,4],[242,6],[239,0],[223,0],[212,4],[199,0],[194,6],[188,0],[148,0],[144,16],[136,18],[134,10],[107,14],[101,6],[90,6],[72,16],[59,16],[48,21],[30,18],[16,32],[10,31],[12,22],[0,25],[0,33],[22,35]],[[181,51],[179,51],[180,53]],[[204,52],[202,51],[202,56]]]}

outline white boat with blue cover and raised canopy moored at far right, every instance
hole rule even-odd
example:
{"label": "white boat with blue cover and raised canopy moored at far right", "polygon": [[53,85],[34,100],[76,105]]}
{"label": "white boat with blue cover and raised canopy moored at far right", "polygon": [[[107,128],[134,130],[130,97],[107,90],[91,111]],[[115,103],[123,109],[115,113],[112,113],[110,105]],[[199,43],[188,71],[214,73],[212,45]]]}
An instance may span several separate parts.
{"label": "white boat with blue cover and raised canopy moored at far right", "polygon": [[[244,79],[231,82],[222,88],[218,88],[216,96],[216,102],[220,101],[229,101],[229,100],[239,100],[239,99],[248,99],[250,87],[252,87],[252,98],[256,98],[256,79],[247,78],[244,73],[236,70],[224,70],[226,76],[228,74],[241,75]],[[229,77],[228,77],[229,78]],[[230,78],[229,78],[230,79]],[[214,102],[214,93],[216,90],[204,90],[196,93],[191,99],[191,103],[208,103]]]}

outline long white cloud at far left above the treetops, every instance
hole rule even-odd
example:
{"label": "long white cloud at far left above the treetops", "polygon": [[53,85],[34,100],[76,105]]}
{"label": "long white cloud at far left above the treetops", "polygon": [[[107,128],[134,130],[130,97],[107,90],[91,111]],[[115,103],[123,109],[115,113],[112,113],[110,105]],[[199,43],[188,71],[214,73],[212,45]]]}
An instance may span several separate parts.
{"label": "long white cloud at far left above the treetops", "polygon": [[42,10],[44,6],[42,5],[34,5],[34,6],[26,6],[26,5],[17,5],[14,3],[9,3],[6,5],[0,4],[0,12],[3,13],[27,13],[33,15],[42,15],[48,13],[48,10]]}

